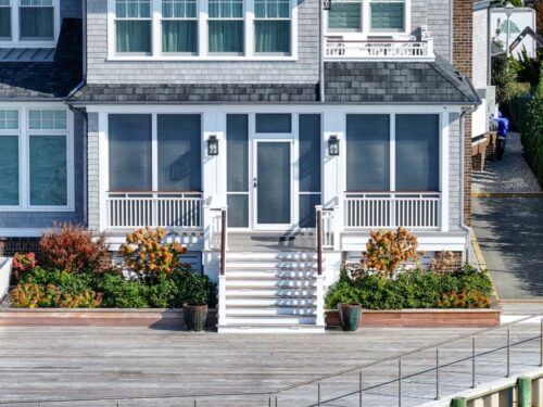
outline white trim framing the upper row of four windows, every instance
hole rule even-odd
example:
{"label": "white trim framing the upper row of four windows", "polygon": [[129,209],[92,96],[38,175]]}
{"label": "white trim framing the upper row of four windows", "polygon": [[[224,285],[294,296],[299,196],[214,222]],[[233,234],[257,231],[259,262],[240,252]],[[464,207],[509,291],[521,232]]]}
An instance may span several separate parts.
{"label": "white trim framing the upper row of four windows", "polygon": [[[13,1],[13,0],[12,0]],[[58,0],[55,0],[58,1]],[[409,0],[406,0],[409,1]],[[214,54],[207,51],[207,0],[198,1],[198,55],[162,52],[162,1],[151,0],[152,51],[149,55],[119,54],[115,50],[115,0],[108,0],[108,61],[298,61],[298,1],[290,0],[290,55],[254,52],[254,0],[244,0],[243,55]]]}

